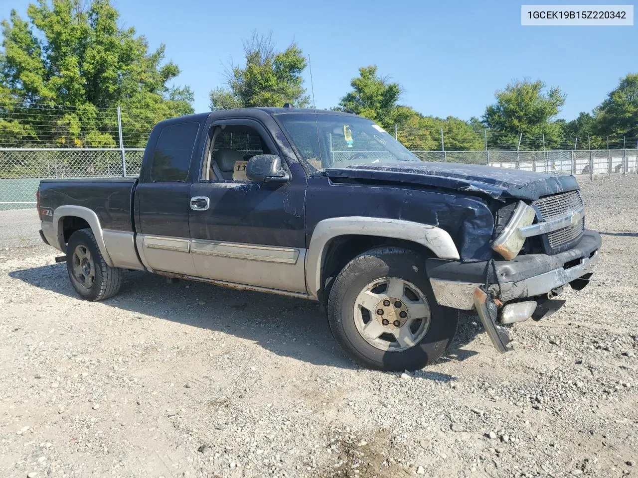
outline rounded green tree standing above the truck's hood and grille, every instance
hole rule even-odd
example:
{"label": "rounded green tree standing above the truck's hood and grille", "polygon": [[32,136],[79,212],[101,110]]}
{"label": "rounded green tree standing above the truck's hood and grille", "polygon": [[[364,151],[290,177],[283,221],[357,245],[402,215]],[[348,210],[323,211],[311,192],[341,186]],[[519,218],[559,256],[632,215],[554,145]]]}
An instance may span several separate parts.
{"label": "rounded green tree standing above the truck's hood and grille", "polygon": [[493,131],[560,138],[562,128],[553,121],[565,105],[565,95],[557,87],[545,92],[545,83],[529,79],[510,83],[494,95],[496,103],[489,105],[483,122]]}

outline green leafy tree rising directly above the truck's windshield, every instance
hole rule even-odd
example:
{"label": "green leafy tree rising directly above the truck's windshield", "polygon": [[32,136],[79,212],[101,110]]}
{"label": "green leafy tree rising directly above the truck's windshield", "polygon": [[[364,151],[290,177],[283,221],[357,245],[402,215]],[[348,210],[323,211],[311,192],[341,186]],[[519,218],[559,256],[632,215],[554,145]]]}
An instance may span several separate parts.
{"label": "green leafy tree rising directly above the truck's windshield", "polygon": [[359,68],[359,76],[352,78],[350,86],[352,91],[341,98],[336,109],[362,115],[388,131],[394,129],[395,122],[404,122],[412,114],[397,105],[403,92],[399,83],[390,82],[387,76],[379,76],[376,65]]}

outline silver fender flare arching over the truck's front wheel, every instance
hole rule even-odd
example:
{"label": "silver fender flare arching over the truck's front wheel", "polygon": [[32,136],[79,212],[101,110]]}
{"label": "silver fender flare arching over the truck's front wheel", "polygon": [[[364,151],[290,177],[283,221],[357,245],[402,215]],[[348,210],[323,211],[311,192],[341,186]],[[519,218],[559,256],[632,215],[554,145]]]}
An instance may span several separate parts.
{"label": "silver fender flare arching over the truck's front wheel", "polygon": [[321,289],[321,275],[326,245],[343,235],[380,236],[416,242],[430,249],[439,259],[459,260],[459,251],[447,231],[436,226],[386,219],[382,217],[333,217],[315,226],[306,254],[306,286],[311,298],[317,299]]}

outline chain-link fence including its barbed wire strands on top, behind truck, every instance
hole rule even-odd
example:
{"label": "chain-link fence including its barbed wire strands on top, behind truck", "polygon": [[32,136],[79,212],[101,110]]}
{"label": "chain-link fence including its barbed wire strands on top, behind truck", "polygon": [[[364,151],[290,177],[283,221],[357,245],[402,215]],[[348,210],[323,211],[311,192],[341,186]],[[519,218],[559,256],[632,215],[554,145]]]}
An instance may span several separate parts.
{"label": "chain-link fence including its barbed wire strands on top, behind truck", "polygon": [[[41,179],[137,176],[143,147],[159,119],[163,117],[117,106],[87,110],[0,102],[0,210],[32,208]],[[454,133],[442,127],[429,131],[400,125],[392,133],[422,161],[590,178],[638,173],[638,142],[632,138],[563,138],[553,142],[544,136],[474,130]],[[226,138],[229,147],[246,153],[258,150],[258,138],[237,136],[242,137],[230,134]],[[336,161],[352,156],[352,150],[331,148],[330,154]],[[378,154],[366,152],[371,160]]]}

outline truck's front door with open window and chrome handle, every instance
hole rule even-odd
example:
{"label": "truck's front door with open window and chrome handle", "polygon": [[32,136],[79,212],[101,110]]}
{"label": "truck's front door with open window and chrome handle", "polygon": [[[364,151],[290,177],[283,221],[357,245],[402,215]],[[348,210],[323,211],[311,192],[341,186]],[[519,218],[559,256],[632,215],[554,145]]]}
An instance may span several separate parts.
{"label": "truck's front door with open window and chrome handle", "polygon": [[[286,163],[256,120],[218,120],[207,131],[200,175],[191,185],[191,256],[199,277],[306,293],[306,175]],[[251,182],[257,154],[278,154],[290,182]]]}

